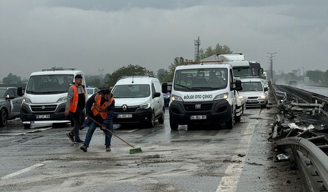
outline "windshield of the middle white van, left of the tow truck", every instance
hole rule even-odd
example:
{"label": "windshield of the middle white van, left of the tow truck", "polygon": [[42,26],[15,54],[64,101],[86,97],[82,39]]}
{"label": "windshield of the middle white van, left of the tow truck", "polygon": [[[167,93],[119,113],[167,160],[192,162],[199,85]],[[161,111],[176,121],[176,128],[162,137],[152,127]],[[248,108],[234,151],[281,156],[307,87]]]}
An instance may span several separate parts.
{"label": "windshield of the middle white van, left of the tow truck", "polygon": [[115,86],[112,91],[114,98],[140,98],[150,96],[149,84],[124,84]]}

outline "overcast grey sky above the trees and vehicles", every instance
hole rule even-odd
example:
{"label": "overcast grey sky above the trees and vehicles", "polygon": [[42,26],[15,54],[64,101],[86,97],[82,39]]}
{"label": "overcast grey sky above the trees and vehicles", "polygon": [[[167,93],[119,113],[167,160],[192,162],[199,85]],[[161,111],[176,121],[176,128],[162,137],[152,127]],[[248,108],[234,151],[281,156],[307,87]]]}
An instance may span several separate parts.
{"label": "overcast grey sky above the trees and vehicles", "polygon": [[175,57],[228,45],[267,69],[328,69],[328,1],[0,0],[0,80],[53,66],[85,74],[129,64],[168,69]]}

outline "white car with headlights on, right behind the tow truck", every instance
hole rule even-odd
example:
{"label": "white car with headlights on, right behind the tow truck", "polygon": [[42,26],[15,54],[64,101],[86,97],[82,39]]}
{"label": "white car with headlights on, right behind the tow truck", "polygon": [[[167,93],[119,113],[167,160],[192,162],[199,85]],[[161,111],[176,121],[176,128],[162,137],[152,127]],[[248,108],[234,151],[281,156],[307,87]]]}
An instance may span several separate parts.
{"label": "white car with headlights on, right behind the tow truck", "polygon": [[268,88],[264,86],[260,78],[241,79],[242,90],[239,97],[246,99],[247,106],[261,106],[265,108],[268,104]]}

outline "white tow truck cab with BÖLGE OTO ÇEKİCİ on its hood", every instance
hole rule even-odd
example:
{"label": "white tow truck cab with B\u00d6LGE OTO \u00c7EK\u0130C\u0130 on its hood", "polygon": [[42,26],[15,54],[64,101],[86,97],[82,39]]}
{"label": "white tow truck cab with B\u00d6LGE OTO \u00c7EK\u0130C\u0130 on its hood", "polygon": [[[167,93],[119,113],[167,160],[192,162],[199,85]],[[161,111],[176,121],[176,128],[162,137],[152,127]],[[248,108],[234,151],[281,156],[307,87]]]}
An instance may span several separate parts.
{"label": "white tow truck cab with B\u00d6LGE OTO \u00c7EK\u0130C\u0130 on its hood", "polygon": [[162,83],[163,92],[171,92],[170,127],[177,130],[181,124],[215,124],[231,129],[241,82],[234,81],[230,64],[200,63],[176,67],[171,90]]}

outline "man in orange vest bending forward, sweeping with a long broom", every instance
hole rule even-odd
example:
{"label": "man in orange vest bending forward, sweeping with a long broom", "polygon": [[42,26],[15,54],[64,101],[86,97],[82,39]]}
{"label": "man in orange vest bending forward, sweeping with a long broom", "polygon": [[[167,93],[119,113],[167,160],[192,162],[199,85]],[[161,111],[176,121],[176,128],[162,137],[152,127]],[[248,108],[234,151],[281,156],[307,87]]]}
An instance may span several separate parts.
{"label": "man in orange vest bending forward, sweeping with a long broom", "polygon": [[[94,104],[94,105],[93,105]],[[93,105],[93,106],[92,106]],[[88,151],[88,147],[93,135],[93,132],[97,127],[100,127],[101,130],[105,132],[105,145],[106,151],[111,151],[111,138],[112,134],[105,130],[108,129],[113,132],[113,116],[115,109],[115,100],[111,96],[111,91],[109,89],[105,89],[103,91],[99,91],[98,93],[93,94],[87,101],[86,105],[86,116],[92,117],[95,121],[100,123],[102,126],[100,127],[96,122],[92,121],[88,118],[85,123],[81,126],[80,129],[83,129],[85,126],[89,126],[88,133],[86,135],[86,140],[84,145],[80,147],[84,152]]]}

